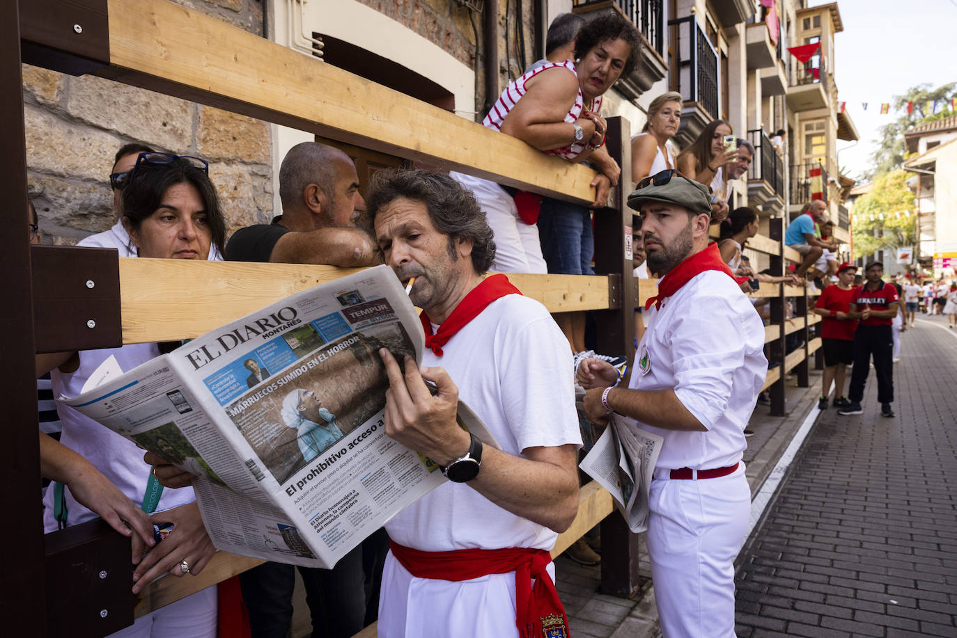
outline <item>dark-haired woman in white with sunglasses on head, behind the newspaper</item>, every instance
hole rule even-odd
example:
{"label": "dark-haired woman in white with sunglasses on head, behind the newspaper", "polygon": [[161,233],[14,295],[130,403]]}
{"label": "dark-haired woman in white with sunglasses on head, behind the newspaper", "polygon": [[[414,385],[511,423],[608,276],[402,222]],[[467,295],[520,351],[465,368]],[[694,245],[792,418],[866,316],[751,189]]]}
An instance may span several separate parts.
{"label": "dark-haired woman in white with sunglasses on head, behind the newspaper", "polygon": [[[166,153],[140,154],[123,189],[122,205],[123,226],[129,233],[131,251],[137,256],[205,260],[212,247],[223,245],[223,214],[204,160]],[[52,373],[55,396],[73,397],[110,356],[126,372],[159,354],[156,343],[133,343],[59,353],[43,361],[47,369],[56,368]],[[42,371],[42,367],[38,369]],[[132,561],[138,563],[133,574],[134,593],[164,574],[185,576],[202,571],[216,550],[203,526],[192,489],[164,491],[154,482],[144,453],[136,445],[72,407],[57,402],[56,408],[63,433],[59,444],[53,439],[50,441],[56,445],[41,442],[42,466],[67,489],[60,488],[58,495],[55,489],[47,491],[44,530],[76,525],[100,514],[132,538]],[[157,513],[146,517],[141,508]],[[153,541],[153,523],[173,524],[172,531],[158,544]],[[216,634],[216,613],[216,588],[209,587],[138,618],[132,627],[112,635],[212,638]]]}

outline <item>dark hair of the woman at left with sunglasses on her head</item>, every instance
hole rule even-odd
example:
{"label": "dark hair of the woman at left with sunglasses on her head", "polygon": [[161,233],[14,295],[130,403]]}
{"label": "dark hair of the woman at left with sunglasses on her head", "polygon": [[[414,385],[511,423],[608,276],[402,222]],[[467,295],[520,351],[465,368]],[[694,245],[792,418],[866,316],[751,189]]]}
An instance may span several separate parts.
{"label": "dark hair of the woman at left with sunglasses on her head", "polygon": [[190,165],[182,159],[173,160],[169,164],[141,162],[136,167],[129,183],[122,189],[123,219],[129,225],[129,230],[138,231],[144,220],[160,208],[169,187],[177,184],[190,184],[199,191],[210,225],[212,245],[221,253],[226,238],[226,222],[223,211],[219,208],[216,188],[212,186],[210,176],[204,169]]}

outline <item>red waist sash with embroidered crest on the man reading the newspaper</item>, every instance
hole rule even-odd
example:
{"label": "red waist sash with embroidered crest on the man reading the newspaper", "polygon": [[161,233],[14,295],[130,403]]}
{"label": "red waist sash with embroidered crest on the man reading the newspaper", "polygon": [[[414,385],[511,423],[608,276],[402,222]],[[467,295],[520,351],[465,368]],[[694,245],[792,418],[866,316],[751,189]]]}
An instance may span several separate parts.
{"label": "red waist sash with embroidered crest on the man reading the newspaper", "polygon": [[[505,547],[423,552],[394,540],[390,545],[392,556],[416,578],[459,582],[514,571],[515,625],[519,627],[519,635],[522,638],[570,635],[565,607],[546,569],[551,555],[544,549]],[[564,629],[564,633],[559,632],[559,628]]]}

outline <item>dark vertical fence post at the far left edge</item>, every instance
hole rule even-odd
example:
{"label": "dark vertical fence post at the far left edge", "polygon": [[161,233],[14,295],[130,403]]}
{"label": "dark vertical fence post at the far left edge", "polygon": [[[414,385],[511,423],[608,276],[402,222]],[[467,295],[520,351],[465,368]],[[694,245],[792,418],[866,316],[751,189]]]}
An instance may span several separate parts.
{"label": "dark vertical fence post at the far left edge", "polygon": [[0,189],[8,206],[0,235],[0,385],[4,442],[10,453],[0,467],[0,502],[8,515],[0,529],[0,614],[8,635],[46,635],[43,528],[37,500],[36,382],[33,371],[33,293],[27,231],[27,151],[20,73],[20,17],[16,2],[0,3]]}

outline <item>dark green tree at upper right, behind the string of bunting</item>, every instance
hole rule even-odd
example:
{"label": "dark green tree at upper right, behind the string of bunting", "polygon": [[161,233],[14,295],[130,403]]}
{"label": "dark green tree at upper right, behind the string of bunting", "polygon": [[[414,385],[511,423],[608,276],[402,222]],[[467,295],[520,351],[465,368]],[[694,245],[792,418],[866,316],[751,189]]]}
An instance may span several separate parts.
{"label": "dark green tree at upper right, behind the string of bunting", "polygon": [[[874,179],[880,173],[900,168],[907,151],[903,134],[913,126],[953,115],[950,110],[950,99],[955,97],[957,97],[957,82],[950,82],[936,89],[931,89],[930,84],[919,84],[902,96],[894,96],[891,100],[891,108],[895,112],[902,112],[903,115],[880,127],[879,148],[874,153],[871,170],[865,172],[866,179]],[[927,102],[934,100],[944,101],[945,108],[937,114],[927,113]],[[907,102],[914,103],[910,113],[907,113]]]}

